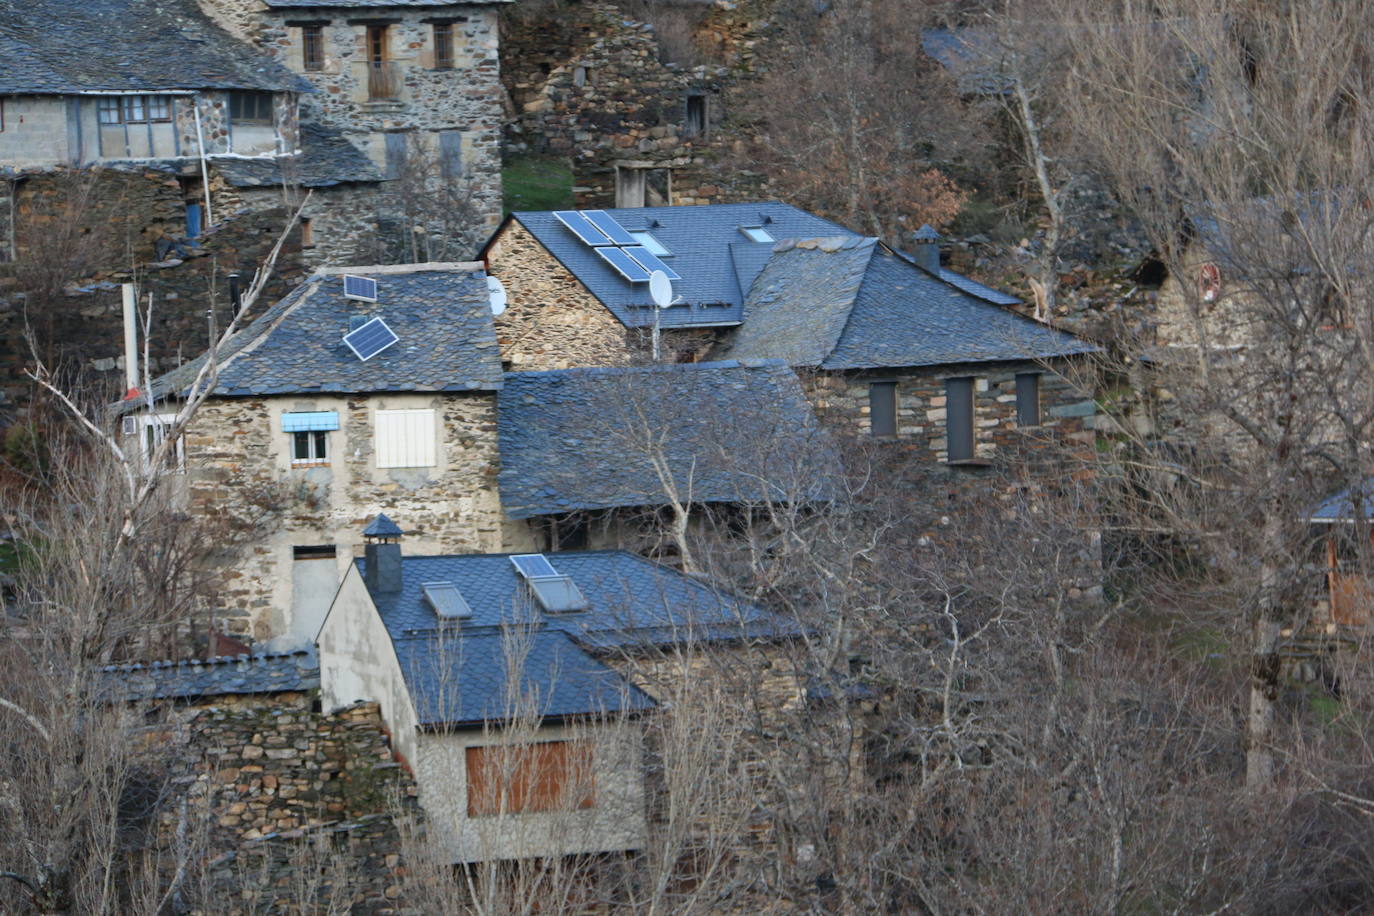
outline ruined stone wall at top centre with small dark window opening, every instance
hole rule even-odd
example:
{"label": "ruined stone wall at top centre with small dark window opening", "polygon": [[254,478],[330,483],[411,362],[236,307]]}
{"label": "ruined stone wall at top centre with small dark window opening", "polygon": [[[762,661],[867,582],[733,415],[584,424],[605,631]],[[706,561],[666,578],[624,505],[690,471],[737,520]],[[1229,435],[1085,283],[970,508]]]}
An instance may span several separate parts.
{"label": "ruined stone wall at top centre with small dark window opening", "polygon": [[[671,199],[650,203],[764,198],[764,176],[721,161],[742,137],[730,121],[731,99],[753,70],[765,25],[749,4],[719,4],[697,37],[724,63],[684,67],[662,63],[653,27],[611,3],[556,5],[543,16],[513,12],[502,33],[503,78],[515,107],[507,152],[566,157],[583,207],[617,205],[617,168],[671,170]],[[690,96],[702,100],[699,130],[687,122]]]}

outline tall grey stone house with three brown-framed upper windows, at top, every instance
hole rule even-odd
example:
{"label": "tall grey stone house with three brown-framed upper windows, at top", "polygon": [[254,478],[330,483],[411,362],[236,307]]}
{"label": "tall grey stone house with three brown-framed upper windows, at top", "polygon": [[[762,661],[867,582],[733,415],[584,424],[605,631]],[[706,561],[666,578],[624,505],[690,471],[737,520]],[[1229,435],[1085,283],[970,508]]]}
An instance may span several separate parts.
{"label": "tall grey stone house with three brown-framed upper windows, at top", "polygon": [[[418,152],[462,187],[478,235],[502,211],[497,11],[508,0],[203,0],[224,27],[302,77],[302,119],[389,179]],[[414,162],[411,163],[414,168]],[[480,238],[473,239],[480,242]]]}

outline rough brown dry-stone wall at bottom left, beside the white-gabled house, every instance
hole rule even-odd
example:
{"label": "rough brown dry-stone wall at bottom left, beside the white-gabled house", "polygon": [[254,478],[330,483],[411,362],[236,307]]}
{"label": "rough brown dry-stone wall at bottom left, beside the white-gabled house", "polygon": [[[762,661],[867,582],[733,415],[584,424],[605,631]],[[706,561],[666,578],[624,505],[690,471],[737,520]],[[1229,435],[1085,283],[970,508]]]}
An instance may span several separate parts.
{"label": "rough brown dry-stone wall at bottom left, beside the white-gabled house", "polygon": [[[306,694],[213,700],[162,735],[176,748],[172,784],[185,820],[205,827],[192,828],[207,846],[194,867],[207,875],[188,884],[206,897],[188,901],[190,912],[295,913],[331,901],[352,913],[396,912],[404,865],[394,813],[418,820],[416,790],[376,705],[323,715]],[[164,845],[185,842],[180,805],[164,806],[159,828]]]}

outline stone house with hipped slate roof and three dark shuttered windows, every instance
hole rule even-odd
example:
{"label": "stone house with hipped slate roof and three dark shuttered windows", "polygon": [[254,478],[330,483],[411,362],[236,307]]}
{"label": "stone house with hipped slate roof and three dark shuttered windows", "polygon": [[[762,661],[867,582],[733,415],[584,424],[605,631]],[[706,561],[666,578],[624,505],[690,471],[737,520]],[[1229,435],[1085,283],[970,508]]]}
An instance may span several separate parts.
{"label": "stone house with hipped slate roof and three dark shuttered windows", "polygon": [[723,354],[785,360],[831,427],[930,464],[987,464],[1026,431],[1091,442],[1072,367],[1096,347],[940,266],[929,227],[916,239],[915,257],[852,235],[779,242]]}

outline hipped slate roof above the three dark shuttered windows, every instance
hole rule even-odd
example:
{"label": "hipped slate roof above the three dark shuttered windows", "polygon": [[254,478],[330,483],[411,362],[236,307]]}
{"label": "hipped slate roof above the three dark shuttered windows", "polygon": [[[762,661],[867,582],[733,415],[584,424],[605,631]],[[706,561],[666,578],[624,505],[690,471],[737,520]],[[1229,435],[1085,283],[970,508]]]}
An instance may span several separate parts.
{"label": "hipped slate roof above the three dark shuttered windows", "polygon": [[1014,297],[877,239],[779,242],[754,280],[725,356],[871,369],[1035,360],[1096,347],[1003,305]]}

